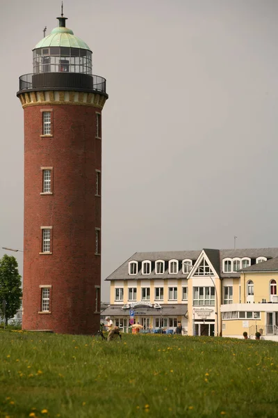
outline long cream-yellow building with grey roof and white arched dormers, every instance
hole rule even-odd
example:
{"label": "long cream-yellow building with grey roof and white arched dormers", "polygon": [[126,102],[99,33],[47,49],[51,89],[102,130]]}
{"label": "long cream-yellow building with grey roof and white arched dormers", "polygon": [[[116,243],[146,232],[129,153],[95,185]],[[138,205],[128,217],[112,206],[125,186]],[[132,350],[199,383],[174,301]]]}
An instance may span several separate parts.
{"label": "long cream-yellow building with grey roof and white arched dormers", "polygon": [[[111,305],[103,314],[123,332],[133,311],[145,329],[171,332],[181,322],[187,335],[242,337],[259,327],[275,339],[277,257],[278,248],[136,253],[107,277]],[[275,266],[277,279],[264,266]]]}

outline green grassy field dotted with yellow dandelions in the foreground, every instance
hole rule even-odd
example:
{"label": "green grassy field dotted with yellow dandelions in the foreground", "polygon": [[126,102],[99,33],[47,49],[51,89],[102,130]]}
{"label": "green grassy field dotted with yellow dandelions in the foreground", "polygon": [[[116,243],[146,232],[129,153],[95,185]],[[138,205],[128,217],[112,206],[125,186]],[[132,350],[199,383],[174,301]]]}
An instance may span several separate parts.
{"label": "green grassy field dotted with yellow dandelions in the foreground", "polygon": [[278,345],[0,331],[0,417],[278,417]]}

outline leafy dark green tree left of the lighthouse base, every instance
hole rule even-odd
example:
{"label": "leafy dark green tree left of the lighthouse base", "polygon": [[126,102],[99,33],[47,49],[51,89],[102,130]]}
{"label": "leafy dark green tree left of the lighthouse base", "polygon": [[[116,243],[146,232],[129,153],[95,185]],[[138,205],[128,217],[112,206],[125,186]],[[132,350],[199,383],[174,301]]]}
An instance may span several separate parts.
{"label": "leafy dark green tree left of the lighthouse base", "polygon": [[0,315],[5,317],[6,325],[21,305],[21,278],[16,258],[5,254],[0,259]]}

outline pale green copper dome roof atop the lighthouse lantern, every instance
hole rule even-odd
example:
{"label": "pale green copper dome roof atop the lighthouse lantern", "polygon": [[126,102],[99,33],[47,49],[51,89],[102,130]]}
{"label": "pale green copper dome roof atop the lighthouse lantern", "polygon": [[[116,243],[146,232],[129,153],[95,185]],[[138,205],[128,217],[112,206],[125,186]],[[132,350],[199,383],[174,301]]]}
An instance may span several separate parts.
{"label": "pale green copper dome roof atop the lighthouse lantern", "polygon": [[77,36],[74,36],[72,29],[68,29],[63,26],[58,26],[54,28],[50,35],[42,38],[40,42],[35,45],[34,49],[37,48],[46,48],[46,47],[69,47],[69,48],[81,48],[81,49],[91,49],[88,45]]}

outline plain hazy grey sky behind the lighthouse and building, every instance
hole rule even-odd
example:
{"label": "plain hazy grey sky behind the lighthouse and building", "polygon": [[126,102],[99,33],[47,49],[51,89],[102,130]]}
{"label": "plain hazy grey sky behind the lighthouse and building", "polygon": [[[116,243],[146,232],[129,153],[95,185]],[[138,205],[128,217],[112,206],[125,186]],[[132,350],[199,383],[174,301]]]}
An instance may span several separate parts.
{"label": "plain hazy grey sky behind the lighthouse and building", "polygon": [[[60,0],[0,0],[0,247],[23,249],[18,77]],[[107,79],[104,283],[136,251],[278,247],[277,0],[64,0]],[[0,249],[0,257],[6,251]],[[23,253],[17,256],[22,274]]]}

